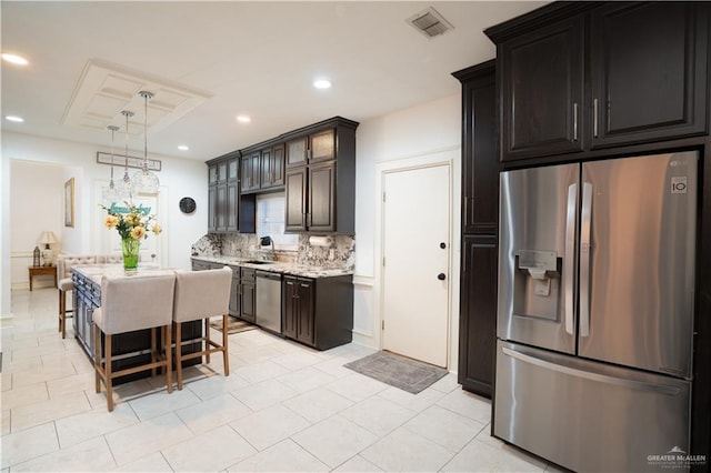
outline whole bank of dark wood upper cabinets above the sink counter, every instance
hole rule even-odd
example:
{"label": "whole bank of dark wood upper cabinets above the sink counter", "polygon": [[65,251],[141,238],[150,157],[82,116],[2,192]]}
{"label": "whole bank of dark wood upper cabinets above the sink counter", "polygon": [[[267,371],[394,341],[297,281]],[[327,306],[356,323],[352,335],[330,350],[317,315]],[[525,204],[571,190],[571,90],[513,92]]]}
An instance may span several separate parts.
{"label": "whole bank of dark wood upper cabinets above the sink counter", "polygon": [[254,232],[257,194],[283,188],[286,231],[353,234],[357,128],[334,117],[208,161],[208,231]]}

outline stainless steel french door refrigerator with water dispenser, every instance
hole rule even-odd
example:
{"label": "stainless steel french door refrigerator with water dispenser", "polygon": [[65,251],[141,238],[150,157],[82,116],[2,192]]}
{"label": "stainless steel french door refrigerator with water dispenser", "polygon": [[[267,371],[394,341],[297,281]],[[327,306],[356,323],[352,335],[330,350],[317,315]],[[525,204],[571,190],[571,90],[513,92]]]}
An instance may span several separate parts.
{"label": "stainless steel french door refrigerator with water dispenser", "polygon": [[688,469],[698,161],[501,174],[495,436],[574,471]]}

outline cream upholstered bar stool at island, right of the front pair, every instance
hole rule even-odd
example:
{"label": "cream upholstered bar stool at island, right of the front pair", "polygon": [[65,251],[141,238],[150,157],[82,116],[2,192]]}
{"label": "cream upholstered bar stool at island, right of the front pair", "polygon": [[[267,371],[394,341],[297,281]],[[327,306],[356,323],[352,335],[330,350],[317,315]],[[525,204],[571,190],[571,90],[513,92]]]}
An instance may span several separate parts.
{"label": "cream upholstered bar stool at island, right of the front pair", "polygon": [[[182,390],[182,360],[194,358],[207,359],[210,354],[222,352],[224,375],[230,375],[228,356],[228,311],[230,306],[230,286],[232,270],[224,266],[221,270],[176,271],[176,299],[173,302],[173,322],[176,330],[176,374],[178,389]],[[210,340],[210,318],[222,316],[222,344]],[[190,354],[182,354],[182,324],[194,320],[204,320],[203,350]],[[184,343],[192,343],[188,341]]]}

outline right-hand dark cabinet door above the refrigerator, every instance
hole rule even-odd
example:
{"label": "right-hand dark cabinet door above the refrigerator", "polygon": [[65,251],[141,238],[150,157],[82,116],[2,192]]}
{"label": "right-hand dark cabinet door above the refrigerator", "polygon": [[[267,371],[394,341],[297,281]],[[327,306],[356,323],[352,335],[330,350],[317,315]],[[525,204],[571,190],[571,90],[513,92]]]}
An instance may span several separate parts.
{"label": "right-hand dark cabinet door above the refrigerator", "polygon": [[612,2],[592,12],[592,148],[702,134],[708,6]]}

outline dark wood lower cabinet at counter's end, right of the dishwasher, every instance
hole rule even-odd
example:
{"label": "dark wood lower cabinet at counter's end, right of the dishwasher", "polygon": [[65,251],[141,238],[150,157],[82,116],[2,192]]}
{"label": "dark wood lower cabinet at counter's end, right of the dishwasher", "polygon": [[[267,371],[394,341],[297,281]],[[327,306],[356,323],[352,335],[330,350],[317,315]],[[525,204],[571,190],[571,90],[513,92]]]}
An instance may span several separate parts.
{"label": "dark wood lower cabinet at counter's end, right of the dishwasher", "polygon": [[352,276],[310,279],[284,275],[281,298],[281,326],[286,338],[318,350],[352,341]]}

